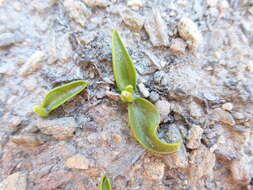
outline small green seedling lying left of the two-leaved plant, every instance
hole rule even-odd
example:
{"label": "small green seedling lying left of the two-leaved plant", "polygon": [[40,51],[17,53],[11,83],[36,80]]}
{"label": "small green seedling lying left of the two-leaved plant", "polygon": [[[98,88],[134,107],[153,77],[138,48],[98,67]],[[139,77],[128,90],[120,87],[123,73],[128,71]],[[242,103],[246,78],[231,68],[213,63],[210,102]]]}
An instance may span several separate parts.
{"label": "small green seedling lying left of the two-leaved plant", "polygon": [[50,90],[44,97],[41,105],[33,107],[33,111],[42,117],[73,98],[87,87],[87,82],[83,80],[73,81],[63,86]]}

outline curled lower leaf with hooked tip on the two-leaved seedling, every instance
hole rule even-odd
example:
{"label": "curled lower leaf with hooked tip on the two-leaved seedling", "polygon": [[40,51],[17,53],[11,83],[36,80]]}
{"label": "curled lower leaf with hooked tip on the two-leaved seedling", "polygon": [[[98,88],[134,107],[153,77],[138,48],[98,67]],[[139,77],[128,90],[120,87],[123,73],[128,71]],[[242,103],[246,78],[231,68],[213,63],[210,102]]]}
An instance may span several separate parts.
{"label": "curled lower leaf with hooked tip on the two-leaved seedling", "polygon": [[128,104],[128,117],[131,131],[138,142],[146,149],[157,153],[176,152],[181,142],[165,143],[157,136],[160,115],[156,107],[144,98],[136,98]]}

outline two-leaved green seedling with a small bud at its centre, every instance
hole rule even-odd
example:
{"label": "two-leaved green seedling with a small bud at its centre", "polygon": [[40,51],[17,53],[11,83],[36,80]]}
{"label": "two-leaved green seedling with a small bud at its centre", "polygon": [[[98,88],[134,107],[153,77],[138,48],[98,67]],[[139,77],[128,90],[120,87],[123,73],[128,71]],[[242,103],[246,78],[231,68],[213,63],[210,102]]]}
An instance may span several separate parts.
{"label": "two-leaved green seedling with a small bud at its centre", "polygon": [[133,136],[146,149],[157,153],[176,152],[181,142],[165,143],[157,136],[160,115],[148,100],[134,96],[136,71],[133,61],[116,30],[112,33],[112,62],[120,98],[128,104],[128,118]]}

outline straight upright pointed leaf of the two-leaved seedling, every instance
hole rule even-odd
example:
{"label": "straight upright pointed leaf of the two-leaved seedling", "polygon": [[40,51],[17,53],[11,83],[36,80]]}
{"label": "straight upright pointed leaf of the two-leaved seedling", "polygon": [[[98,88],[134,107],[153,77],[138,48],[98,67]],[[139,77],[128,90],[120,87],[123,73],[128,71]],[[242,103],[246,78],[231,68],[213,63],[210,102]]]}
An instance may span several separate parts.
{"label": "straight upright pointed leaf of the two-leaved seedling", "polygon": [[135,90],[136,71],[134,64],[116,30],[113,30],[112,33],[112,63],[118,89],[123,91],[127,86],[131,85],[133,90]]}

